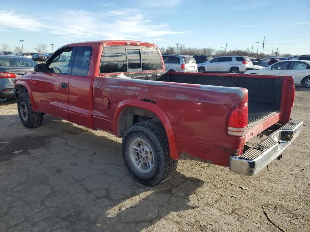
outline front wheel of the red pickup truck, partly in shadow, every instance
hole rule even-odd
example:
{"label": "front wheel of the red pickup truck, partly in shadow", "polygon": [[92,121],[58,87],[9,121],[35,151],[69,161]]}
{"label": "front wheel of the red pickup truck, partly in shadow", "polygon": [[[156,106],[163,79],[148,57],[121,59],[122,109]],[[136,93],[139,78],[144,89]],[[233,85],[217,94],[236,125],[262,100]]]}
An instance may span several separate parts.
{"label": "front wheel of the red pickup truck, partly in shadow", "polygon": [[42,124],[43,114],[32,110],[28,93],[22,93],[18,96],[17,107],[19,118],[25,127],[35,128]]}

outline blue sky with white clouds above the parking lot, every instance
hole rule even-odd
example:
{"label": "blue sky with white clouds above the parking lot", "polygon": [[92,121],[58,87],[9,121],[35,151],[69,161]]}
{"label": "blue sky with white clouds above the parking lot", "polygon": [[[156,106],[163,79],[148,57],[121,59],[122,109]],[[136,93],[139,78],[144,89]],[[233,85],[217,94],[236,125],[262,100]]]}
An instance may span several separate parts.
{"label": "blue sky with white clouds above the parking lot", "polygon": [[310,0],[10,0],[0,8],[0,43],[33,51],[39,43],[104,39],[160,47],[212,47],[310,54]]}

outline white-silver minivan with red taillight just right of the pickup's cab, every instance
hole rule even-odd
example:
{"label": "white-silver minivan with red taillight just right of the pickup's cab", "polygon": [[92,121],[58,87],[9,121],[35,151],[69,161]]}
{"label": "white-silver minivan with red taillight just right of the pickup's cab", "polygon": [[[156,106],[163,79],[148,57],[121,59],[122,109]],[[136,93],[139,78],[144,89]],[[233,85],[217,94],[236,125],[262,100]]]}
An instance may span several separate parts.
{"label": "white-silver minivan with red taillight just right of the pickup's cab", "polygon": [[172,72],[197,73],[196,60],[186,55],[163,55],[165,70]]}

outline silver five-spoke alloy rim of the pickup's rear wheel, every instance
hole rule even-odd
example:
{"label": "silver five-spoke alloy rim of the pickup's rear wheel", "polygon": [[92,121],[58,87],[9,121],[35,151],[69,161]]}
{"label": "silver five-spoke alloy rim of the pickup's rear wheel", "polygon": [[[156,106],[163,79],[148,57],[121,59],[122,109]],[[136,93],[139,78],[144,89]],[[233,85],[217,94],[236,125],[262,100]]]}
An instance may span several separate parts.
{"label": "silver five-spoke alloy rim of the pickup's rear wheel", "polygon": [[142,173],[149,173],[154,167],[154,153],[143,139],[136,138],[130,143],[130,160]]}

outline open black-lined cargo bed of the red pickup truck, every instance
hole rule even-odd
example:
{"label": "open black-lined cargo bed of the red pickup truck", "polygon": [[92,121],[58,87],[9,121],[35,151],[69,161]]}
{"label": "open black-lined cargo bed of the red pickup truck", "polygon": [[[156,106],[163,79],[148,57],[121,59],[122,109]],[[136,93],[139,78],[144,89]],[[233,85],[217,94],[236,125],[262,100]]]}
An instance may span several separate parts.
{"label": "open black-lined cargo bed of the red pickup truck", "polygon": [[243,87],[248,89],[248,126],[255,125],[280,111],[282,79],[248,78],[242,74],[158,72],[131,78],[191,83],[199,85]]}

